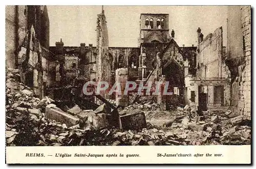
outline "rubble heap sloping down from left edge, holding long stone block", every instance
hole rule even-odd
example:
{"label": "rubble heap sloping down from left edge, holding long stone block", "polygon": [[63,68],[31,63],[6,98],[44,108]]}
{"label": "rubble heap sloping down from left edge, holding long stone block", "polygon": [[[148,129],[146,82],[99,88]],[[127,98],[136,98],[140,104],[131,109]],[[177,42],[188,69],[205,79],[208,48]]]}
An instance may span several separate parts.
{"label": "rubble heap sloping down from left edge, holding long stone block", "polygon": [[[35,98],[33,89],[20,82],[19,70],[7,69],[7,146],[78,146],[108,142],[99,130],[107,126],[101,113],[104,105],[93,111],[66,105],[60,109],[53,103],[58,105],[47,96],[42,100]],[[84,136],[87,139],[83,139]],[[95,141],[97,136],[100,138]]]}

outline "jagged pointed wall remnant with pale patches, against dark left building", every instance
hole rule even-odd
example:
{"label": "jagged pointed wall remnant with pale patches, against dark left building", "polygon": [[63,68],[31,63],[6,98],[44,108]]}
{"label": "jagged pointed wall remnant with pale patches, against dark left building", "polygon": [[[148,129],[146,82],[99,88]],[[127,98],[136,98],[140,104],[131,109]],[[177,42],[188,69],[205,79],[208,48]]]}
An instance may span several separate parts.
{"label": "jagged pointed wall remnant with pale patches, against dark left building", "polygon": [[[47,58],[51,54],[45,50],[42,52],[40,42],[35,37],[33,26],[26,35],[24,42],[17,49],[17,55],[18,68],[22,69],[20,76],[22,82],[32,87],[38,98],[42,98],[48,81],[49,65]],[[51,85],[51,83],[48,83],[48,85]]]}

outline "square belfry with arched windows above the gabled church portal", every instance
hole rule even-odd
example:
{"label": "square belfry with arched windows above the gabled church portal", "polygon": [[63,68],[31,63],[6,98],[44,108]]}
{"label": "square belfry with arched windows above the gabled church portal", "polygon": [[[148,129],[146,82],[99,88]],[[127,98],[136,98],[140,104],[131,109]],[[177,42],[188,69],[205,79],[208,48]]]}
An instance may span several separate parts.
{"label": "square belfry with arched windows above the gabled church portal", "polygon": [[[160,109],[170,109],[184,103],[184,78],[196,67],[196,47],[180,47],[175,41],[175,31],[169,34],[168,14],[141,14],[140,17],[140,81],[168,81],[168,91],[173,95],[160,95]],[[149,20],[149,21],[148,21]],[[149,25],[149,27],[148,27]],[[171,35],[171,36],[170,36]],[[185,66],[187,64],[187,67]],[[189,68],[188,68],[189,64]]]}

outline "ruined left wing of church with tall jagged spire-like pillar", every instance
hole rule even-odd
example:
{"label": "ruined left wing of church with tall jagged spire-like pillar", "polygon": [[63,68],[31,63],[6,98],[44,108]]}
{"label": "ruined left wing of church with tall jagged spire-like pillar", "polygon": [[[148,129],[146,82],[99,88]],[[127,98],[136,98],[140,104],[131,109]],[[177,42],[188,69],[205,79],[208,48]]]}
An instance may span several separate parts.
{"label": "ruined left wing of church with tall jagged spire-like pillar", "polygon": [[[64,46],[62,40],[56,42],[56,46],[50,46],[50,50],[55,55],[60,54],[65,57],[63,67],[68,81],[80,76],[87,80],[106,81],[112,84],[113,57],[109,55],[108,29],[104,10],[102,9],[97,16],[97,45],[95,47],[92,44],[86,46],[85,43],[80,43],[79,47]],[[61,78],[57,81],[61,81]]]}

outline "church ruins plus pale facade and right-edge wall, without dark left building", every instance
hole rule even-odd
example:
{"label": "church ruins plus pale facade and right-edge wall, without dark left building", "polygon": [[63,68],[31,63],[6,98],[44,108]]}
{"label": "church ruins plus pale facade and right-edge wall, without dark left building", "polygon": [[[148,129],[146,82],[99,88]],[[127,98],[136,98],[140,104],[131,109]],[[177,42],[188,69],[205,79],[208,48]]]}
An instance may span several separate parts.
{"label": "church ruins plus pale facade and right-edge wall, without dark left building", "polygon": [[[236,10],[236,15],[233,11]],[[83,76],[113,85],[116,70],[127,69],[127,81],[168,81],[173,95],[160,95],[156,102],[169,109],[178,96],[180,104],[194,110],[229,109],[250,113],[250,8],[229,7],[228,42],[223,46],[223,29],[207,36],[195,30],[197,45],[179,46],[175,31],[169,30],[168,14],[140,15],[139,47],[110,47],[104,10],[97,18],[96,46],[63,46],[50,50],[65,56],[66,79]],[[237,23],[241,23],[237,25]],[[240,40],[234,39],[239,37]],[[75,68],[75,73],[73,72]],[[73,73],[69,73],[72,71]],[[248,80],[249,79],[249,80]],[[231,106],[231,107],[230,107]]]}

